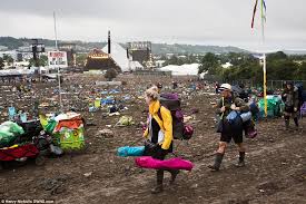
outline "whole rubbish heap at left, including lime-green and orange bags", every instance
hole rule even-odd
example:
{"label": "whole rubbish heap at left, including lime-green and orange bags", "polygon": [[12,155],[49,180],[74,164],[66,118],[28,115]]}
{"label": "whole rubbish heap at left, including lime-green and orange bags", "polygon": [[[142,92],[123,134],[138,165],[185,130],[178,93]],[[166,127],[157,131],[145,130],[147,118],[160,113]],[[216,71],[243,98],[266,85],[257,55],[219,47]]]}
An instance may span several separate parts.
{"label": "whole rubbish heap at left, including lime-green and orange bags", "polygon": [[42,165],[48,156],[83,148],[83,119],[76,113],[4,122],[0,125],[0,164],[34,158],[37,165]]}

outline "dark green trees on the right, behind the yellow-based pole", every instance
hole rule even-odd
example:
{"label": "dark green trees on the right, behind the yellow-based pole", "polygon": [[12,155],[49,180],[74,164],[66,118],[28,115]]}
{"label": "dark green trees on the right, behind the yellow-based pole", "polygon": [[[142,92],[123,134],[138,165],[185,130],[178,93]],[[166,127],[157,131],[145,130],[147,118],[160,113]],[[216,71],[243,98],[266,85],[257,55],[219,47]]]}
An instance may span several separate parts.
{"label": "dark green trees on the right, behind the yellow-based pole", "polygon": [[[287,56],[283,51],[269,54],[267,61],[268,80],[306,80],[306,56]],[[230,62],[224,68],[221,65]],[[199,66],[199,74],[217,76],[225,81],[249,79],[263,82],[263,65],[260,59],[250,54],[215,55],[206,54]]]}

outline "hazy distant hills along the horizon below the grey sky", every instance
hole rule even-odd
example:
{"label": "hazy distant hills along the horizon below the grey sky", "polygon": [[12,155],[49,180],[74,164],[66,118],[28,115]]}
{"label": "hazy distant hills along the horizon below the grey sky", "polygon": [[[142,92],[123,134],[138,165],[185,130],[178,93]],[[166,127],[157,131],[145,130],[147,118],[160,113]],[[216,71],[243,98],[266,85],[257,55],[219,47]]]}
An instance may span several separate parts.
{"label": "hazy distant hills along the horizon below the grey sky", "polygon": [[[55,40],[40,39],[40,42],[45,43],[48,47],[55,46]],[[22,46],[29,46],[32,42],[28,38],[12,38],[12,37],[0,37],[0,46],[6,46],[9,49],[18,49]],[[59,41],[68,42],[68,41]],[[93,48],[102,48],[106,46],[106,42],[83,42],[79,40],[69,41],[77,45],[77,48],[80,50],[91,50]],[[121,43],[125,46],[125,43]],[[165,55],[165,54],[225,54],[225,52],[248,52],[247,50],[236,48],[236,47],[219,47],[219,46],[198,46],[198,45],[168,45],[168,43],[152,43],[152,54]]]}

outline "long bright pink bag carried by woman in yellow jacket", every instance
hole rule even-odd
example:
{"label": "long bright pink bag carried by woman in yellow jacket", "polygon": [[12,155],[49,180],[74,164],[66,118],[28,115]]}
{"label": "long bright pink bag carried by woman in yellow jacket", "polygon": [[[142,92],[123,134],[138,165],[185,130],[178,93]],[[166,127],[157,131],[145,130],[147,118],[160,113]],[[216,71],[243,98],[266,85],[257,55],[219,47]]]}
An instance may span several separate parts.
{"label": "long bright pink bag carried by woman in yellow jacket", "polygon": [[154,168],[154,169],[185,169],[191,171],[194,164],[190,161],[185,161],[181,158],[170,158],[165,161],[155,159],[151,156],[141,156],[135,158],[137,166],[142,168]]}

